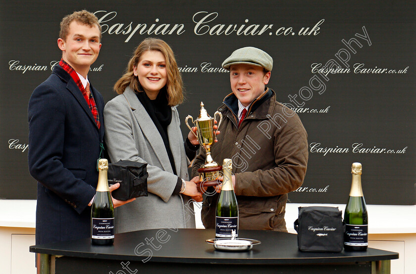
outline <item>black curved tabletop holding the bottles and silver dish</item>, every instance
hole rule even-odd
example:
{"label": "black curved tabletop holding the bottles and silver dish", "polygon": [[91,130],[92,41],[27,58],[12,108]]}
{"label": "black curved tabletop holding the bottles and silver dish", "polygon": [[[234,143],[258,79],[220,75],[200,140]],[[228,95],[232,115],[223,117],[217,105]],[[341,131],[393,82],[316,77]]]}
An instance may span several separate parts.
{"label": "black curved tabletop holding the bottles and silver dish", "polygon": [[296,234],[264,230],[239,231],[240,238],[261,241],[250,251],[218,251],[205,242],[214,235],[214,229],[148,229],[116,234],[111,246],[91,245],[90,238],[85,238],[35,245],[30,251],[81,258],[199,264],[331,264],[399,258],[398,253],[373,248],[364,252],[302,252]]}

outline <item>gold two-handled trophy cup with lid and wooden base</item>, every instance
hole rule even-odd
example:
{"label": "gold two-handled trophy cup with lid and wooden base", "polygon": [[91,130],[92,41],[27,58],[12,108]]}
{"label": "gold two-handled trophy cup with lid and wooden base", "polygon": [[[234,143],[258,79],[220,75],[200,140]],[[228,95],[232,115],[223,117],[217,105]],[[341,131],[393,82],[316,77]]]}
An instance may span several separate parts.
{"label": "gold two-handled trophy cup with lid and wooden base", "polygon": [[[219,122],[217,130],[214,132],[214,120],[216,115],[219,115]],[[191,118],[192,123],[197,127],[197,134],[192,131],[192,128],[188,124],[188,120]],[[200,181],[203,182],[204,186],[217,185],[218,177],[220,177],[220,171],[222,166],[218,166],[211,157],[211,146],[214,143],[216,132],[218,131],[219,125],[222,121],[222,114],[219,111],[214,113],[214,118],[210,117],[207,110],[204,108],[204,103],[201,102],[201,110],[198,119],[194,121],[191,115],[186,116],[185,124],[191,130],[191,132],[198,138],[201,146],[207,151],[205,164],[198,169],[200,175]]]}

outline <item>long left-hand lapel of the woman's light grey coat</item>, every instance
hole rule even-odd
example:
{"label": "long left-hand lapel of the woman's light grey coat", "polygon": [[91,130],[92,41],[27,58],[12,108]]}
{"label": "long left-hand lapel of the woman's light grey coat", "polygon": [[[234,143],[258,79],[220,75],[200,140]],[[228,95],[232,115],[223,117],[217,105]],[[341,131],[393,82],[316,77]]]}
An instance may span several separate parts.
{"label": "long left-hand lapel of the woman's light grey coat", "polygon": [[148,139],[150,145],[152,146],[152,149],[155,152],[159,163],[162,165],[163,170],[173,173],[172,167],[170,166],[169,157],[167,156],[167,152],[163,143],[163,139],[157,131],[157,128],[147,113],[145,107],[140,103],[136,94],[130,87],[126,88],[126,90],[123,92],[123,95],[126,97],[130,108],[133,110],[134,117],[136,118],[136,121],[143,132],[143,135]]}

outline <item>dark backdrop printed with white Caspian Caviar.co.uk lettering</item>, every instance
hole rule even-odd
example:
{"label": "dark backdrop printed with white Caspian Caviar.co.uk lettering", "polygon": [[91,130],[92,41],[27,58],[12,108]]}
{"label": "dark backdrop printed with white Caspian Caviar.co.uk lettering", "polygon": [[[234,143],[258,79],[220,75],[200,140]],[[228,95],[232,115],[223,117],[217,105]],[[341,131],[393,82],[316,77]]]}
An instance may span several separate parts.
{"label": "dark backdrop printed with white Caspian Caviar.co.uk lettering", "polygon": [[[181,120],[198,116],[201,100],[213,115],[230,92],[222,61],[236,48],[260,47],[274,60],[268,86],[308,132],[307,176],[290,201],[346,203],[359,161],[367,203],[415,204],[415,7],[411,0],[0,0],[0,198],[36,199],[27,103],[60,59],[61,18],[85,8],[103,25],[88,77],[105,101],[134,47],[159,37],[183,69]],[[325,65],[333,70],[318,71]]]}

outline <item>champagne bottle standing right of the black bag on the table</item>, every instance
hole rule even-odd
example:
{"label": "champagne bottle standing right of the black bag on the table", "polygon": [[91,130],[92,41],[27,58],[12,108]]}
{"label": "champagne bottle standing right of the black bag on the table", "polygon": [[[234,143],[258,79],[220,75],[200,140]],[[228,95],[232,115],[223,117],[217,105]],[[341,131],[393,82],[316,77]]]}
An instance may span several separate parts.
{"label": "champagne bottle standing right of the black bag on the table", "polygon": [[366,250],[368,246],[368,214],[361,188],[361,163],[353,163],[350,197],[345,207],[344,249],[348,251]]}

